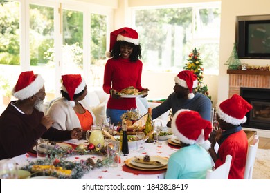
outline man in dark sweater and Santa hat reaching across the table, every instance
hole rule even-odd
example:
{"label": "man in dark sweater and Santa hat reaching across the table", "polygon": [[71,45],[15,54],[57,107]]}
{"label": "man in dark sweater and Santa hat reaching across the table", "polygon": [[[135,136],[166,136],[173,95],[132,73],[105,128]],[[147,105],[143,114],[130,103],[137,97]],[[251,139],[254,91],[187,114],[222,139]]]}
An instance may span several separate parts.
{"label": "man in dark sweater and Santa hat reaching across the table", "polygon": [[[195,92],[198,85],[197,76],[190,70],[183,70],[174,77],[174,92],[161,103],[153,108],[152,119],[172,109],[172,114],[178,110],[189,109],[199,112],[203,119],[211,120],[212,103],[204,94]],[[167,124],[170,127],[170,122]]]}

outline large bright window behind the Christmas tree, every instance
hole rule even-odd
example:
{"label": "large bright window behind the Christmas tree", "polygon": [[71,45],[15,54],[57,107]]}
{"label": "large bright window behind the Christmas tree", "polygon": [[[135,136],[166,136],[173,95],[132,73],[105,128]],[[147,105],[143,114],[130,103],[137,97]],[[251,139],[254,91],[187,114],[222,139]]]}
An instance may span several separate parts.
{"label": "large bright window behind the Christmas tree", "polygon": [[136,8],[133,15],[144,70],[179,72],[196,47],[204,72],[218,74],[220,3]]}

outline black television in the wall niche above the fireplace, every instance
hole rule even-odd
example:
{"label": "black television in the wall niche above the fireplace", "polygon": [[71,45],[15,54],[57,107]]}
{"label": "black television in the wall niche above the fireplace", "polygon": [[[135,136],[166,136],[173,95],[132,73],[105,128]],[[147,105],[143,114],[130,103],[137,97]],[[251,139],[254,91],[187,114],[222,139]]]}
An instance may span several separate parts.
{"label": "black television in the wall niche above the fireplace", "polygon": [[236,43],[240,59],[270,59],[270,16],[242,17],[237,21]]}

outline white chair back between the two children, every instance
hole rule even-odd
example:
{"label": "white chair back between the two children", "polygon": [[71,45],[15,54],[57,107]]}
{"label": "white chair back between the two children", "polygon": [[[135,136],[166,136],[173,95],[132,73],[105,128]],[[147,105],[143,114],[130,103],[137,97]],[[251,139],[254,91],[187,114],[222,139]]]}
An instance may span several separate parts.
{"label": "white chair back between the two children", "polygon": [[231,168],[231,155],[226,156],[226,161],[215,170],[207,170],[206,179],[228,179],[228,172]]}

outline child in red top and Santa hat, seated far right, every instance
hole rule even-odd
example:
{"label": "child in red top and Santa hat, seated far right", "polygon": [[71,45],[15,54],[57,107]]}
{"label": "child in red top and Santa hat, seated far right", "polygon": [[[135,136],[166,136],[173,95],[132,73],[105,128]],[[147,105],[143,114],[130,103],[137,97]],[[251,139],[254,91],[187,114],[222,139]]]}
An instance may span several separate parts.
{"label": "child in red top and Santa hat, seated far right", "polygon": [[[244,179],[248,141],[241,124],[246,122],[245,115],[252,108],[252,105],[238,94],[233,94],[230,99],[217,103],[217,122],[220,129],[213,130],[210,136],[209,153],[215,162],[215,168],[225,162],[228,154],[232,156],[228,179]],[[216,141],[219,144],[217,153]]]}

